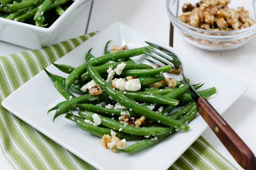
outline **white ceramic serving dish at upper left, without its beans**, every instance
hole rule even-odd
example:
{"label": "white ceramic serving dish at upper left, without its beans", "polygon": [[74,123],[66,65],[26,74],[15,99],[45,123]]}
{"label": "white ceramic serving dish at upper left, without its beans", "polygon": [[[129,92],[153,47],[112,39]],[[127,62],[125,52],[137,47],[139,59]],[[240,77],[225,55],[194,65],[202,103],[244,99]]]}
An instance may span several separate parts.
{"label": "white ceramic serving dish at upper left, without its beans", "polygon": [[0,40],[36,49],[84,35],[91,5],[92,0],[75,0],[49,28],[0,17]]}

